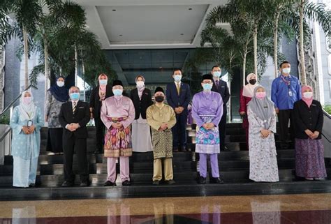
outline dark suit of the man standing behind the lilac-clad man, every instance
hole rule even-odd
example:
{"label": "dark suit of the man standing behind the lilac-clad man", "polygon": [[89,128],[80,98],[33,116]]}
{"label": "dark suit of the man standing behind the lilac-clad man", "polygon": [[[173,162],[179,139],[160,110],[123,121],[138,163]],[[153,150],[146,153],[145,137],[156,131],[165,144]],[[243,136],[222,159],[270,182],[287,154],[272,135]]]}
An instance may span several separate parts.
{"label": "dark suit of the man standing behind the lilac-clad man", "polygon": [[225,147],[225,140],[226,140],[226,103],[228,103],[228,100],[230,98],[230,92],[228,89],[228,84],[224,82],[223,80],[219,80],[219,86],[216,86],[216,83],[213,80],[212,85],[212,91],[215,91],[219,94],[221,94],[223,99],[223,116],[221,118],[221,121],[219,122],[219,146],[223,150]]}

